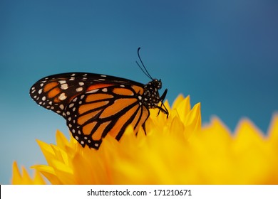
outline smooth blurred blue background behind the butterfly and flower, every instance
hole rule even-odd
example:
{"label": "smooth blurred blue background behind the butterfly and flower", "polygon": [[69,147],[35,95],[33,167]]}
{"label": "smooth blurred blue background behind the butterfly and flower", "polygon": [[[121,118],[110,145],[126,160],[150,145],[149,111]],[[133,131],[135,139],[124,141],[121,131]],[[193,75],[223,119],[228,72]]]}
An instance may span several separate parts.
{"label": "smooth blurred blue background behind the butterfly and flower", "polygon": [[234,130],[266,132],[278,110],[278,1],[0,1],[0,183],[11,164],[46,163],[36,139],[56,143],[66,121],[29,97],[38,79],[94,72],[148,82],[137,48],[167,99],[190,95]]}

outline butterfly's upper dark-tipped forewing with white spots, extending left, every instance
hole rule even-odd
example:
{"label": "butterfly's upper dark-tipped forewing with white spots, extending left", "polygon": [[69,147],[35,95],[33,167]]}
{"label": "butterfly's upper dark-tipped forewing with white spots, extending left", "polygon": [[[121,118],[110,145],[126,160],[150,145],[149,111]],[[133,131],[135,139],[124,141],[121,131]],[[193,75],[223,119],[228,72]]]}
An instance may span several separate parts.
{"label": "butterfly's upper dark-tipped forewing with white spots, extending left", "polygon": [[51,75],[38,80],[30,89],[30,95],[35,102],[46,109],[61,114],[71,100],[85,93],[88,89],[108,87],[117,84],[132,84],[142,87],[138,82],[125,80],[120,77],[98,75],[93,73],[73,72]]}

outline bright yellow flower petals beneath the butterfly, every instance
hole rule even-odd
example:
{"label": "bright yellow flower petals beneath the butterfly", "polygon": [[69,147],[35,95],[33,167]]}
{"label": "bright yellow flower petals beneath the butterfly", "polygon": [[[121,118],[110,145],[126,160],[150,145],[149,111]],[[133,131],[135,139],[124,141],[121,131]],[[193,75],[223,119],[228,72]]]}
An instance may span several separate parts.
{"label": "bright yellow flower petals beneath the butterfly", "polygon": [[[249,119],[235,132],[217,117],[201,125],[200,103],[179,95],[169,118],[150,110],[148,134],[133,127],[120,141],[107,135],[100,149],[83,148],[60,131],[56,144],[38,141],[47,165],[32,179],[13,166],[13,184],[277,184],[278,115],[263,134]],[[42,177],[43,176],[43,177]]]}

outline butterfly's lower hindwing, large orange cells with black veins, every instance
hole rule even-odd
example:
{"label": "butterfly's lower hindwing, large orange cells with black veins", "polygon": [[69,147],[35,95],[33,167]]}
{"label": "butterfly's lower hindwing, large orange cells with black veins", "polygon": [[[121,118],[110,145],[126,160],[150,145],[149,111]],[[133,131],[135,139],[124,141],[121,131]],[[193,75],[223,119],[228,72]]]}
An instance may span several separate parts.
{"label": "butterfly's lower hindwing, large orange cells with black veins", "polygon": [[120,140],[128,124],[138,130],[148,119],[148,109],[138,103],[140,95],[130,85],[91,88],[65,110],[67,125],[82,146],[98,149],[106,134]]}

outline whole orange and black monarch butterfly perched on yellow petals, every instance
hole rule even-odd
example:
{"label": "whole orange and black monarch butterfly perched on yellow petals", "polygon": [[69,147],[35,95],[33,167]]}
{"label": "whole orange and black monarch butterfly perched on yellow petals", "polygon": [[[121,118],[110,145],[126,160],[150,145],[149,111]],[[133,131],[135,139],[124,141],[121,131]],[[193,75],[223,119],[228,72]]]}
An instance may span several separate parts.
{"label": "whole orange and black monarch butterfly perched on yellow petals", "polygon": [[133,124],[136,134],[140,126],[145,131],[149,109],[158,108],[168,117],[163,104],[167,89],[160,97],[161,80],[150,76],[139,50],[138,58],[145,71],[136,63],[151,79],[146,85],[110,75],[62,73],[38,80],[30,89],[31,98],[64,117],[71,134],[83,147],[98,149],[107,134],[119,141],[129,124]]}

